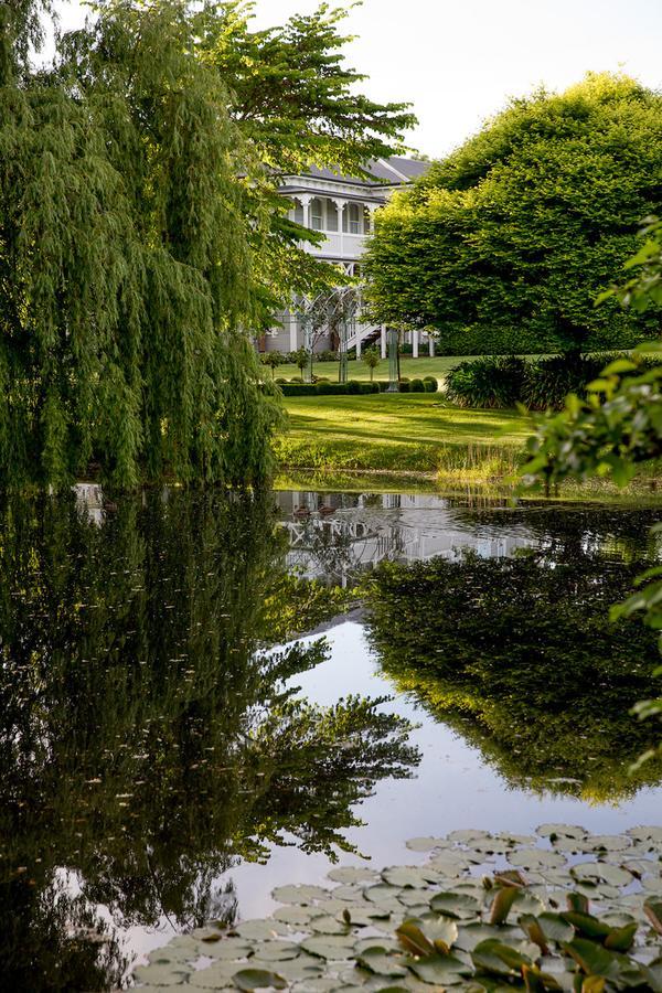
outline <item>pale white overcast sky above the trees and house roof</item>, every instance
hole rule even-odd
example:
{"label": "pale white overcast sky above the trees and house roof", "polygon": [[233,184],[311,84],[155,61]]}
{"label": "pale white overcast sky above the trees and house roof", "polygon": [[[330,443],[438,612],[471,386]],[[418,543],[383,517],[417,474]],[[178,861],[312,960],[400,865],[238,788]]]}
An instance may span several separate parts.
{"label": "pale white overcast sky above the trees and house roof", "polygon": [[[339,7],[350,8],[349,0]],[[259,26],[310,13],[318,0],[257,0]],[[61,4],[78,24],[77,0]],[[480,128],[510,96],[559,89],[589,70],[662,87],[662,0],[363,0],[351,10],[350,63],[378,100],[407,100],[412,143],[438,157]]]}

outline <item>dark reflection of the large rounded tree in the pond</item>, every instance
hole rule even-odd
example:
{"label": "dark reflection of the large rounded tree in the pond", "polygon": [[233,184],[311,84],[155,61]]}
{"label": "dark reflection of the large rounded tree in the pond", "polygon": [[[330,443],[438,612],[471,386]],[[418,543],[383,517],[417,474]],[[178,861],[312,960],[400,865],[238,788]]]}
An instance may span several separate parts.
{"label": "dark reflection of the large rounded tree in the pond", "polygon": [[643,563],[580,553],[576,535],[568,547],[567,558],[546,547],[385,566],[370,587],[369,626],[398,688],[511,784],[617,802],[662,778],[652,761],[629,775],[655,734],[629,714],[656,693],[655,634],[607,621]]}

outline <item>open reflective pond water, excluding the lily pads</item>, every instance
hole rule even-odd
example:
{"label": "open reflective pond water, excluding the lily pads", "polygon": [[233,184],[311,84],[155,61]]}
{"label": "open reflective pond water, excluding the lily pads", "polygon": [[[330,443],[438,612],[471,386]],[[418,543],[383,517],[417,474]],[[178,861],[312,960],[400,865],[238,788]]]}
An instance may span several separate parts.
{"label": "open reflective pond water, excluding the lily pads", "polygon": [[339,857],[412,863],[414,836],[659,822],[659,765],[628,773],[654,649],[601,620],[660,557],[655,519],[95,487],[3,504],[2,989],[130,985],[171,935],[263,916]]}

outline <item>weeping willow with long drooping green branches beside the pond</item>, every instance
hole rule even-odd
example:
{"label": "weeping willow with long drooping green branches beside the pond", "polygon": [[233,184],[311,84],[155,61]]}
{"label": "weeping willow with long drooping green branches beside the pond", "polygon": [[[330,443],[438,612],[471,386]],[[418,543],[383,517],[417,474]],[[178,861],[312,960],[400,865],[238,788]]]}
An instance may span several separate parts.
{"label": "weeping willow with long drooping green branches beside the pond", "polygon": [[258,482],[278,408],[243,330],[245,149],[185,8],[113,4],[31,75],[19,22],[0,79],[1,483],[62,488],[90,462],[124,488]]}

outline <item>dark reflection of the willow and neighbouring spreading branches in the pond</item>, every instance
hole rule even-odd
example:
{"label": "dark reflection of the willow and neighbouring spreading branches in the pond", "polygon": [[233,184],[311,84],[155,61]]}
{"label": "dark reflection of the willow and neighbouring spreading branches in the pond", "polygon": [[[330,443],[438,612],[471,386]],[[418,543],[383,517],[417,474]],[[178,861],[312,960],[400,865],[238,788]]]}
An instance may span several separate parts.
{"label": "dark reflection of the willow and neighbouring spreading branches in the pond", "polygon": [[264,649],[284,556],[259,499],[151,494],[102,528],[73,501],[3,508],[4,989],[115,984],[119,946],[90,937],[90,906],[121,926],[232,914],[214,880],[239,856],[286,833],[346,847],[352,805],[417,761],[378,701],[324,709],[287,688],[325,648]]}

